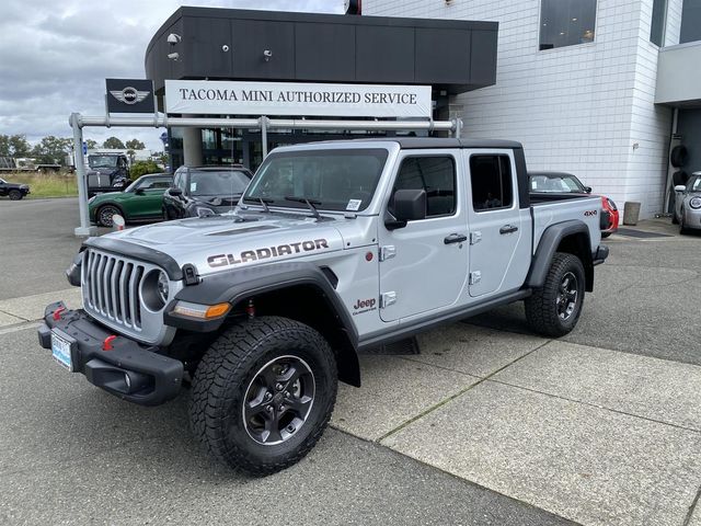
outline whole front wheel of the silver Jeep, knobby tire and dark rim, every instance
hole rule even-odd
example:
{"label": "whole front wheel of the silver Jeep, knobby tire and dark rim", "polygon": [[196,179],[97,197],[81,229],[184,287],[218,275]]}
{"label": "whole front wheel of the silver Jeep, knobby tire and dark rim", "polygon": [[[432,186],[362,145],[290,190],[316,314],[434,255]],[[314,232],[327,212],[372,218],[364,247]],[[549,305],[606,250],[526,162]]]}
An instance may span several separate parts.
{"label": "whole front wheel of the silver Jeep, knobby tire and dark rim", "polygon": [[193,379],[191,422],[220,462],[269,474],[321,437],[336,400],[333,352],[314,329],[262,317],[225,331]]}

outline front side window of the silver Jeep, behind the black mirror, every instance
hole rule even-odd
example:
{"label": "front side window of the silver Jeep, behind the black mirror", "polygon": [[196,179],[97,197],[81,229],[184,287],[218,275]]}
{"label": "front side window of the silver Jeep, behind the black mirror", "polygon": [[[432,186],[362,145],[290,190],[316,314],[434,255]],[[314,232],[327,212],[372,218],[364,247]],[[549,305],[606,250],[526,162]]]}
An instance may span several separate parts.
{"label": "front side window of the silver Jeep, behind the black mirror", "polygon": [[[456,163],[452,157],[407,157],[397,174],[398,190],[425,190],[426,217],[449,216],[456,211]],[[393,213],[392,199],[389,205]]]}

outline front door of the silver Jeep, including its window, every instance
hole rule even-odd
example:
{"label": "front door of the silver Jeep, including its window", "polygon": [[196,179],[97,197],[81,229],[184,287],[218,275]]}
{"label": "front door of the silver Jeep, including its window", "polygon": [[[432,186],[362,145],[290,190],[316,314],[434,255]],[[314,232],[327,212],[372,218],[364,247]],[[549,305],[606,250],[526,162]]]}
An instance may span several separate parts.
{"label": "front door of the silver Jeep, including its window", "polygon": [[468,274],[468,218],[459,150],[400,155],[387,196],[392,211],[397,190],[425,190],[425,219],[388,230],[379,226],[380,317],[394,321],[447,309],[461,297]]}

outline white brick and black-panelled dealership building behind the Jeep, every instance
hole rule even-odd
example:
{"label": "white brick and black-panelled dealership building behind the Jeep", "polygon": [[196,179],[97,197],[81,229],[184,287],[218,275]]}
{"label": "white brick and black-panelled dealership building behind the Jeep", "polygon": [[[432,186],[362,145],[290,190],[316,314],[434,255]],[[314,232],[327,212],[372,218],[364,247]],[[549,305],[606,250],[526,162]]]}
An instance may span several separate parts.
{"label": "white brick and black-panelled dealership building behind the Jeep", "polygon": [[[674,146],[687,149],[682,171],[701,170],[699,65],[701,0],[364,0],[360,15],[181,8],[146,54],[169,115],[199,116],[204,107],[173,106],[169,82],[233,82],[232,90],[254,87],[263,99],[303,91],[300,84],[329,93],[331,84],[353,87],[325,100],[300,95],[297,108],[260,105],[258,116],[279,111],[297,119],[290,129],[171,128],[174,165],[255,168],[278,145],[445,134],[430,123],[453,121],[463,137],[521,141],[530,169],[575,173],[619,205],[640,202],[643,217],[667,209]],[[368,93],[424,102],[354,107]],[[320,110],[344,96],[349,104]],[[206,111],[240,117],[251,106]],[[304,118],[333,118],[337,127],[304,129]],[[344,119],[358,118],[427,125],[344,129]]]}

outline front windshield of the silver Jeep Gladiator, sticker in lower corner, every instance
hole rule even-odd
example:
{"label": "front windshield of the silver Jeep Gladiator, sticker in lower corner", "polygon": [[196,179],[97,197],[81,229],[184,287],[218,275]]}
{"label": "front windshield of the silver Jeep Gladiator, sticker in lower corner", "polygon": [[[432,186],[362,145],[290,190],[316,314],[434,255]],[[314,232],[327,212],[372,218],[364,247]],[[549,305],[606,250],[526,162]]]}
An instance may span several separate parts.
{"label": "front windshield of the silver Jeep Gladiator, sticker in lower corner", "polygon": [[294,208],[304,203],[286,197],[313,201],[318,208],[360,211],[372,201],[384,168],[384,149],[307,150],[272,153],[258,169],[244,201]]}

